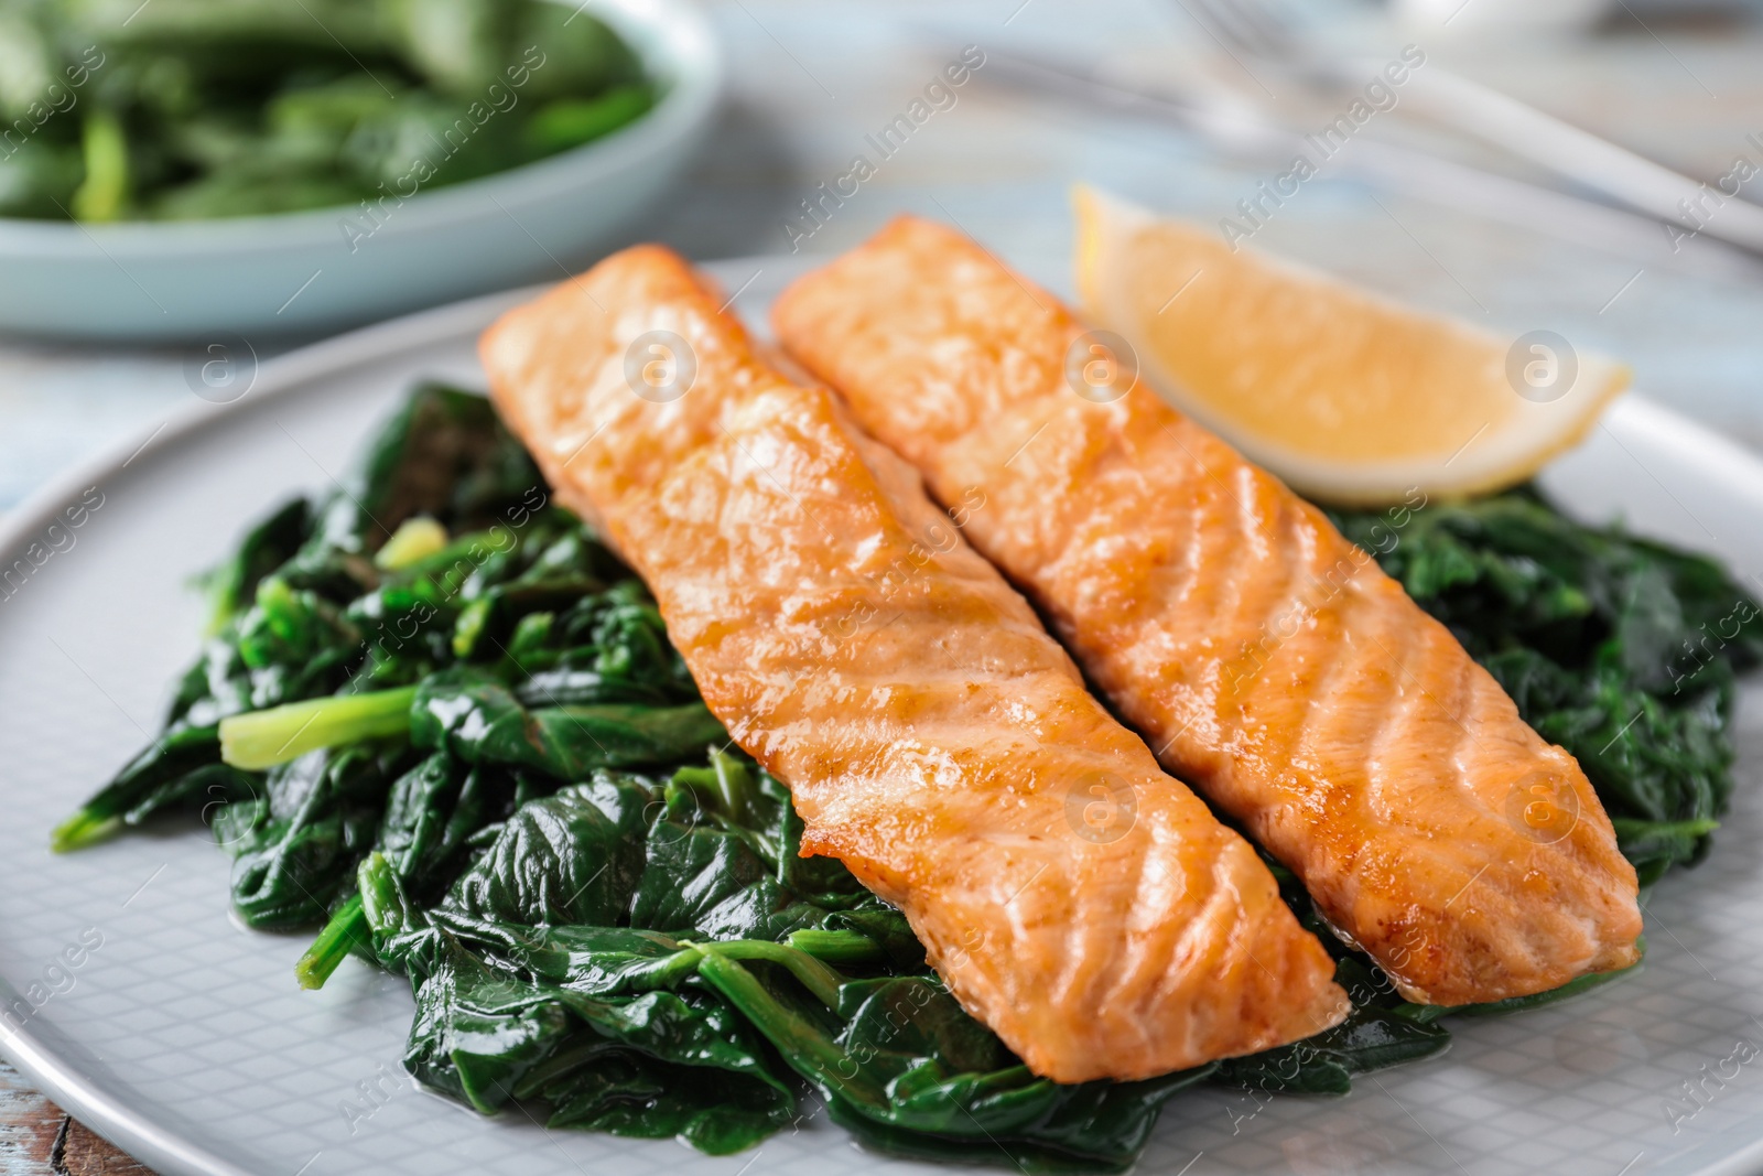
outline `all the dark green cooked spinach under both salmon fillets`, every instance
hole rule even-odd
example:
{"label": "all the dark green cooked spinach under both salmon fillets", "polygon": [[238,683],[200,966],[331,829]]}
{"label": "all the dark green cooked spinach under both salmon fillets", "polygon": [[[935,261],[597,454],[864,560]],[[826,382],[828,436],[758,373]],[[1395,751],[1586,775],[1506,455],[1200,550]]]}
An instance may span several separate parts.
{"label": "all the dark green cooked spinach under both salmon fillets", "polygon": [[[1373,552],[1389,532],[1336,520]],[[1580,755],[1643,876],[1705,852],[1733,674],[1763,652],[1751,598],[1530,492],[1398,531],[1384,566]],[[1035,1077],[897,910],[799,857],[788,790],[728,748],[643,585],[471,393],[418,388],[346,488],[273,511],[208,591],[162,735],[55,846],[199,816],[249,926],[321,926],[300,984],[351,954],[407,977],[405,1067],[485,1114],[723,1155],[799,1123],[813,1091],[876,1151],[1123,1171],[1195,1083],[1343,1093],[1444,1049],[1447,1012],[1608,980],[1409,1005],[1269,859],[1336,957],[1343,1024],[1142,1083]]]}

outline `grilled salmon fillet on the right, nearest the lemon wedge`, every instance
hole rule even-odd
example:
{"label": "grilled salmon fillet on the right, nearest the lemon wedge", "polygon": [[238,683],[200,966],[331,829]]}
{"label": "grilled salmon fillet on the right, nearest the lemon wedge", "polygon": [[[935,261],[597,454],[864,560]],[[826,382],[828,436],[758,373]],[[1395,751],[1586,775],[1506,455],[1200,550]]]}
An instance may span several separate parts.
{"label": "grilled salmon fillet on the right, nearest the lemon wedge", "polygon": [[1051,294],[908,217],[772,317],[938,499],[984,497],[975,548],[1405,998],[1638,959],[1634,869],[1573,756],[1271,474],[1142,384],[1077,395],[1093,339]]}

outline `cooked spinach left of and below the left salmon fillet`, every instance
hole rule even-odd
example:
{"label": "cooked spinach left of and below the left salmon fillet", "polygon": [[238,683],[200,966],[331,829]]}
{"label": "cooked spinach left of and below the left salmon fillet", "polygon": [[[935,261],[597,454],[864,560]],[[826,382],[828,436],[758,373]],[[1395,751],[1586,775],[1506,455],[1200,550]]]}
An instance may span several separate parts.
{"label": "cooked spinach left of and below the left salmon fillet", "polygon": [[300,982],[409,977],[407,1068],[481,1113],[726,1153],[811,1090],[876,1150],[1105,1171],[1213,1068],[1060,1086],[968,1017],[480,397],[420,388],[208,591],[164,733],[56,848],[199,815],[249,926],[323,924]]}

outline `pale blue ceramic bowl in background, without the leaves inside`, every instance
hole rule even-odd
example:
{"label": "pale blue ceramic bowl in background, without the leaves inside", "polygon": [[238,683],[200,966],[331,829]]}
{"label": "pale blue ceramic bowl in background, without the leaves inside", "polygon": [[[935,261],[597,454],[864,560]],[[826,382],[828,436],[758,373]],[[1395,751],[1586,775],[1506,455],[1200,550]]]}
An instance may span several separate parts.
{"label": "pale blue ceramic bowl in background, without the leaves inside", "polygon": [[[192,340],[337,330],[557,275],[652,203],[709,130],[723,62],[693,0],[598,0],[665,86],[649,115],[524,167],[349,208],[190,222],[0,219],[0,331]],[[485,134],[495,130],[487,123]],[[360,219],[360,215],[356,215]]]}

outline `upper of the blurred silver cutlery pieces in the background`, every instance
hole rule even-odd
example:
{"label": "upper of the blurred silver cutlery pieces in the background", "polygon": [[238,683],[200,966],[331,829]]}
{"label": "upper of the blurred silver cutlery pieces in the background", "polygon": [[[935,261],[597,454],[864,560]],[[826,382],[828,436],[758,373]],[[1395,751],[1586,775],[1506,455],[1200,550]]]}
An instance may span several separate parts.
{"label": "upper of the blurred silver cutlery pieces in the background", "polygon": [[[1375,63],[1312,49],[1264,0],[1176,4],[1239,63],[1241,56],[1266,62],[1310,88],[1329,92],[1358,88],[1375,76]],[[1763,252],[1763,206],[1738,199],[1737,192],[1678,175],[1439,65],[1410,72],[1403,97],[1407,106],[1439,123],[1657,217],[1673,249],[1707,233]]]}

